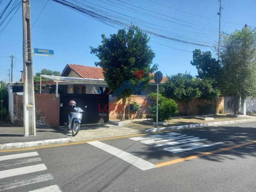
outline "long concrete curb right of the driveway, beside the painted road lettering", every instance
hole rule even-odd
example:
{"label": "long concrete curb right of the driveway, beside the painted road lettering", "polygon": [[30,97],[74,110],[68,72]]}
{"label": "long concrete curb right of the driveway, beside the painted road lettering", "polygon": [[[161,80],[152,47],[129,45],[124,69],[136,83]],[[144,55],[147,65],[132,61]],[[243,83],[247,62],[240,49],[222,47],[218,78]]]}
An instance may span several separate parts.
{"label": "long concrete curb right of the driveway, beside the painted road lettering", "polygon": [[190,124],[190,125],[181,125],[181,126],[170,126],[170,127],[162,127],[162,128],[150,128],[150,129],[147,129],[146,132],[151,133],[151,132],[167,131],[167,130],[189,129],[189,128],[197,128],[197,127],[209,127],[209,126],[215,126],[215,125],[225,125],[225,124],[243,123],[243,122],[251,122],[251,121],[256,121],[256,118],[234,120],[234,121],[220,121],[220,122],[211,122],[211,123]]}

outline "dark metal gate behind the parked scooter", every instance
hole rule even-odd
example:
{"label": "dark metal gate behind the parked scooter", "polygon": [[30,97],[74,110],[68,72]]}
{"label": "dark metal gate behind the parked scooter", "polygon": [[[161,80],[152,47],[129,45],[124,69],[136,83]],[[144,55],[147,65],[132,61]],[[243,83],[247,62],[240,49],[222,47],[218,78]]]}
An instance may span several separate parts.
{"label": "dark metal gate behind the parked scooter", "polygon": [[68,102],[76,101],[76,106],[84,109],[81,124],[103,124],[108,122],[108,95],[106,94],[60,94],[60,126],[67,122],[70,111]]}

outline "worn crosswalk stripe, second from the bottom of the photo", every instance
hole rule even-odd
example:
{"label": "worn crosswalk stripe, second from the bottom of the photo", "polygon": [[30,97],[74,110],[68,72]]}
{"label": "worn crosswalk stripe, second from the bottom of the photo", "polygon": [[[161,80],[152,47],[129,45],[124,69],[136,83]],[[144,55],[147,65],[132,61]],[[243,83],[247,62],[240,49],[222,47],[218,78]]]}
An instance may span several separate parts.
{"label": "worn crosswalk stripe, second from the bottom of the photo", "polygon": [[0,191],[26,186],[38,182],[48,181],[52,179],[54,179],[52,174],[44,174],[39,176],[28,177],[26,179],[8,181],[0,184]]}

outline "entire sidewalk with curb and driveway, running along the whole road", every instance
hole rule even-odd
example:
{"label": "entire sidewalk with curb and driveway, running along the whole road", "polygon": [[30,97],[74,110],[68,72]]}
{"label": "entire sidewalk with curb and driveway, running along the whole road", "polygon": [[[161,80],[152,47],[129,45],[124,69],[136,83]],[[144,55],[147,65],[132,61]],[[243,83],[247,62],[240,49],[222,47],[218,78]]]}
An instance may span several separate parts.
{"label": "entire sidewalk with curb and driveway, running along the whole road", "polygon": [[166,126],[161,126],[160,128],[144,125],[143,122],[126,123],[124,126],[116,126],[112,124],[82,125],[78,135],[74,137],[71,132],[67,131],[66,127],[54,129],[48,126],[38,126],[36,128],[36,136],[24,137],[23,127],[0,124],[0,150],[38,147],[69,142],[86,142],[90,140],[132,136],[150,132],[207,127],[250,121],[256,121],[256,117],[246,116],[246,118],[234,118],[219,116],[215,117],[212,121],[203,121],[194,118],[176,118],[169,120]]}

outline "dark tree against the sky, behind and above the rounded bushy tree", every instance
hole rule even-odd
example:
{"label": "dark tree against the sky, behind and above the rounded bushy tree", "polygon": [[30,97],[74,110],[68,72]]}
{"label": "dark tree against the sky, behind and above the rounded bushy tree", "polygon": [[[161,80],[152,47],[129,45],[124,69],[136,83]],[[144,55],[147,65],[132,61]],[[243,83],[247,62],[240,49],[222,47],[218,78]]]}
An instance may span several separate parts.
{"label": "dark tree against the sky, behind and above the rounded bushy tree", "polygon": [[190,64],[196,66],[198,76],[201,79],[212,78],[218,80],[221,72],[219,62],[212,58],[210,51],[201,52],[200,49],[193,51],[193,61]]}

